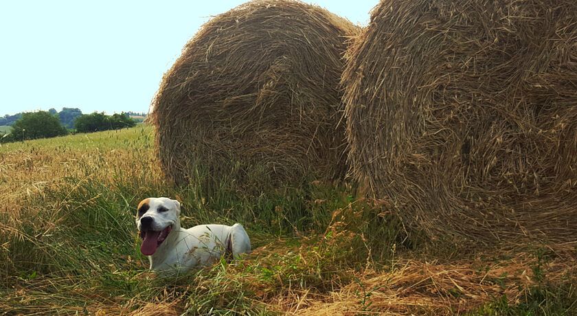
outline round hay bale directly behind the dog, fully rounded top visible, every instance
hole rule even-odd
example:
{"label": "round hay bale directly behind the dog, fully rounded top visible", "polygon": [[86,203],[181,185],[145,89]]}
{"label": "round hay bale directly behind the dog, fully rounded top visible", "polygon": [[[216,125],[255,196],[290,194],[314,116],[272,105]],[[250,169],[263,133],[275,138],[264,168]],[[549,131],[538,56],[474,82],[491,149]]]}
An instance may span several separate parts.
{"label": "round hay bale directly behind the dog, fully rounded top visible", "polygon": [[298,1],[251,1],[184,47],[152,104],[163,171],[205,188],[295,185],[346,173],[339,81],[357,27]]}

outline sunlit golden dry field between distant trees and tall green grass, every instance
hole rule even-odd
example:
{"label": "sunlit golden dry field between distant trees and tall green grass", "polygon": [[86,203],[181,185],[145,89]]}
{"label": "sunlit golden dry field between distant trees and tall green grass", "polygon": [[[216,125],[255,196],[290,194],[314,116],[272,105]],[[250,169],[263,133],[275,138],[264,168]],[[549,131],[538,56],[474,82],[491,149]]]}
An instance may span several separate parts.
{"label": "sunlit golden dry field between distant trees and tall green grass", "polygon": [[[68,137],[36,139],[0,146],[0,212],[19,217],[22,201],[43,195],[67,177],[111,179],[111,169],[146,171],[161,179],[155,157],[142,158],[152,146],[152,128],[133,128],[77,134]],[[122,135],[122,144],[118,144]],[[137,161],[138,163],[135,163]],[[138,168],[138,167],[142,167]],[[2,227],[6,224],[6,227]],[[1,229],[11,225],[0,223]]]}

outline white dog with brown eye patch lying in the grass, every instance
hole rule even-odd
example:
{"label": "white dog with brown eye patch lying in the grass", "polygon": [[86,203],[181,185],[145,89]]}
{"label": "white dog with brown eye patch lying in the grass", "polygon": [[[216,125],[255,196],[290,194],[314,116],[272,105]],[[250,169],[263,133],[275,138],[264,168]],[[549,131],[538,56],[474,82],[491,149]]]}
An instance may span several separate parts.
{"label": "white dog with brown eye patch lying in the grass", "polygon": [[138,205],[136,225],[142,238],[140,251],[157,272],[186,271],[216,262],[221,256],[236,258],[251,251],[251,241],[240,224],[180,227],[180,203],[168,198],[148,198]]}

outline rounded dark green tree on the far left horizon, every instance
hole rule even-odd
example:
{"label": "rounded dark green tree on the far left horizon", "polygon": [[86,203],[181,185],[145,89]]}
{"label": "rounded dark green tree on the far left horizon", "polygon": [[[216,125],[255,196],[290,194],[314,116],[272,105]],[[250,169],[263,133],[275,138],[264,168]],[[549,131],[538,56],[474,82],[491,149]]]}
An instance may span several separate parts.
{"label": "rounded dark green tree on the far left horizon", "polygon": [[56,137],[67,133],[68,131],[60,124],[58,117],[47,111],[23,113],[22,117],[12,125],[12,138],[16,141]]}

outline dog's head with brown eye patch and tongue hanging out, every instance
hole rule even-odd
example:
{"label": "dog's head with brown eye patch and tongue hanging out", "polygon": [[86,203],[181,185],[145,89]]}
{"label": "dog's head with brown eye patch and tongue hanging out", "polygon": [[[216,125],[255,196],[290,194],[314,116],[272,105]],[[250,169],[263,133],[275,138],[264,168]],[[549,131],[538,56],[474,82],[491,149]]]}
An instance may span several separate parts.
{"label": "dog's head with brown eye patch and tongue hanging out", "polygon": [[140,251],[152,256],[172,229],[180,227],[180,203],[168,198],[148,198],[138,204],[136,226],[142,238]]}

